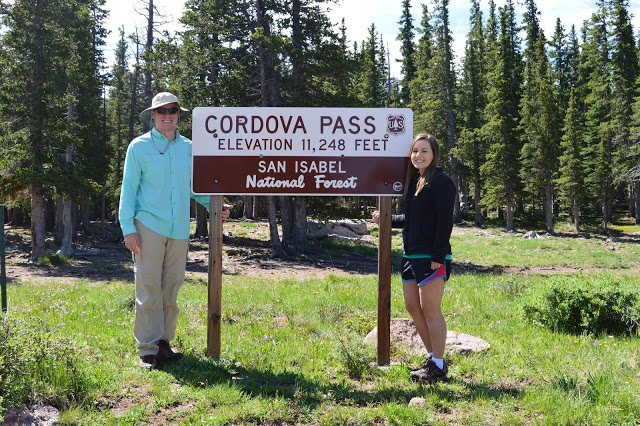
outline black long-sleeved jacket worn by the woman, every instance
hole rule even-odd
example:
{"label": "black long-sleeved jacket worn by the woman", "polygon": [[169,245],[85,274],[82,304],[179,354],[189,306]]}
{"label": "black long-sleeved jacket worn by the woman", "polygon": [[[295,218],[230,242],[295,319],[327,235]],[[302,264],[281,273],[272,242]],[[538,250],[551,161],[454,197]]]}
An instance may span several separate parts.
{"label": "black long-sleeved jacket worn by the woman", "polygon": [[394,228],[404,228],[402,240],[406,254],[429,254],[431,260],[444,263],[451,254],[453,203],[456,188],[453,181],[439,167],[429,184],[416,196],[414,179],[404,201],[404,214],[393,215]]}

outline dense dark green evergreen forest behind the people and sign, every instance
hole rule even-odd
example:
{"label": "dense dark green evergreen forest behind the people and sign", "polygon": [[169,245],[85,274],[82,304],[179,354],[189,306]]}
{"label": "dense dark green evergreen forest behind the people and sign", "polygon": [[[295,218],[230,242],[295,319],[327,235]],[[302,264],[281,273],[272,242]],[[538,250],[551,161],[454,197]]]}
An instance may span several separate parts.
{"label": "dense dark green evergreen forest behind the people and sign", "polygon": [[[105,0],[0,0],[0,203],[13,226],[31,227],[33,260],[49,232],[72,253],[91,221],[117,221],[128,143],[149,130],[140,112],[170,91],[187,108],[411,108],[415,132],[443,149],[457,223],[515,230],[530,218],[550,234],[561,216],[576,232],[587,220],[606,231],[614,215],[640,223],[639,33],[628,0],[593,1],[580,28],[558,19],[545,34],[535,0],[522,16],[513,0],[489,0],[488,13],[470,0],[456,58],[449,0],[428,0],[420,16],[402,0],[392,78],[376,26],[348,40],[327,16],[331,0],[186,0],[175,33],[161,30],[153,0],[137,0],[147,26],[120,29],[113,63]],[[180,132],[190,136],[189,122]],[[307,217],[375,204],[230,198],[236,216],[280,221],[276,254],[305,250]],[[196,232],[206,234],[202,210]]]}

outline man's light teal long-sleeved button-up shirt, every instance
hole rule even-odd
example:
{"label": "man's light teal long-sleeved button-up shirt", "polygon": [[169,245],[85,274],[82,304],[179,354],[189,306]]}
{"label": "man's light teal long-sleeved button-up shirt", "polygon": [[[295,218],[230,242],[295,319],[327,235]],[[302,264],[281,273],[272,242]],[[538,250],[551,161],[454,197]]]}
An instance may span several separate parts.
{"label": "man's light teal long-sleeved button-up shirt", "polygon": [[209,210],[209,196],[191,192],[189,139],[176,130],[175,140],[169,143],[154,127],[151,132],[131,141],[120,192],[119,216],[123,235],[136,232],[133,222],[137,219],[167,238],[189,238],[189,198]]}

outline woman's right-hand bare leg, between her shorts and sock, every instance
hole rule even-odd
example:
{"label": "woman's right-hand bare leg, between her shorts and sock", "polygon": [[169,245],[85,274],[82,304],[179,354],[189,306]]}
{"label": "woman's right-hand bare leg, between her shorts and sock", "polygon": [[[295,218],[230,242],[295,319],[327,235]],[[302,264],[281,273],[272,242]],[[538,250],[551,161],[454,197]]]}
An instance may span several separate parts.
{"label": "woman's right-hand bare leg, between her shorts and sock", "polygon": [[423,318],[426,321],[427,330],[429,331],[433,356],[434,358],[444,358],[444,348],[447,343],[447,324],[440,306],[442,296],[444,295],[444,278],[438,278],[417,288],[420,292],[420,304],[422,306]]}

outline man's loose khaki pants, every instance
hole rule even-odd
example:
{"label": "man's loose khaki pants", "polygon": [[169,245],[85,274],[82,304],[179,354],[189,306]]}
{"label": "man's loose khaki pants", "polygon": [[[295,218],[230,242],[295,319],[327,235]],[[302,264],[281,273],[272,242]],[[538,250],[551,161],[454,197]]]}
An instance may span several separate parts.
{"label": "man's loose khaki pants", "polygon": [[173,340],[178,321],[178,290],[184,281],[189,239],[164,237],[135,221],[140,254],[133,255],[136,318],[133,335],[138,354],[155,355],[158,341]]}

